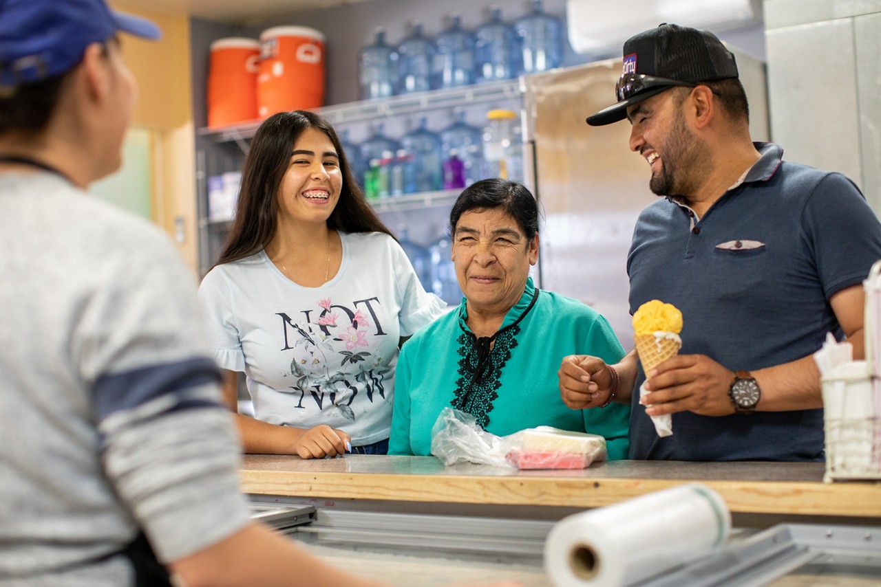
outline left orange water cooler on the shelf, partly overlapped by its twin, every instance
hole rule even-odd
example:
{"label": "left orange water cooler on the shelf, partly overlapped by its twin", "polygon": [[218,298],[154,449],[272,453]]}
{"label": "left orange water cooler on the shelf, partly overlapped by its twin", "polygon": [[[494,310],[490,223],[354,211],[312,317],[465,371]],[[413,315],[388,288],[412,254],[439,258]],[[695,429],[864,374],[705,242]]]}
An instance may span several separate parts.
{"label": "left orange water cooler on the shelf, partly overlapped by its twin", "polygon": [[211,43],[208,70],[208,126],[257,118],[260,42],[230,37]]}

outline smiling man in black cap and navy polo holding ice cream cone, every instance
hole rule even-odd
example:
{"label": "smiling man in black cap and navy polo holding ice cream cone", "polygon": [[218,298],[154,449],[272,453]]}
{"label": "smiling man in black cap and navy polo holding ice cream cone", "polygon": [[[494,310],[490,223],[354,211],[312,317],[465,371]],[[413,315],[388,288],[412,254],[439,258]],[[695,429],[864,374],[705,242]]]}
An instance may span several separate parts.
{"label": "smiling man in black cap and navy polo holding ice cream cone", "polygon": [[[617,102],[588,123],[630,121],[630,149],[662,196],[633,232],[631,313],[659,299],[683,315],[678,356],[649,373],[635,351],[611,365],[615,400],[632,403],[630,458],[823,460],[812,355],[832,332],[862,358],[881,224],[844,175],[752,142],[737,62],[714,34],[663,24],[627,40],[623,64]],[[602,404],[611,369],[566,357],[563,400]],[[672,436],[648,415],[671,415]]]}

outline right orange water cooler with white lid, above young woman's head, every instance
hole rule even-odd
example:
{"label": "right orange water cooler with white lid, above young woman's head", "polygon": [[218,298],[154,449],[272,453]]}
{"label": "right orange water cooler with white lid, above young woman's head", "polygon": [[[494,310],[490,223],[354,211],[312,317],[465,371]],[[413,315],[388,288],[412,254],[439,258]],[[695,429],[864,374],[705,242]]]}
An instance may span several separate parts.
{"label": "right orange water cooler with white lid, above young woman's head", "polygon": [[257,114],[324,103],[324,35],[307,26],[274,26],[260,35]]}

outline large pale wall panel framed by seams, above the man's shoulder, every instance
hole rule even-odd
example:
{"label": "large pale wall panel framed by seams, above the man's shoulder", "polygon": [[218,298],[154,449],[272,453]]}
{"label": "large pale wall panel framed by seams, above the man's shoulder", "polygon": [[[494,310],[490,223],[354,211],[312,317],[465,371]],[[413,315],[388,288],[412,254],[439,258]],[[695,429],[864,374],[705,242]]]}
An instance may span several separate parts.
{"label": "large pale wall panel framed by seams, above the man's shoulder", "polygon": [[848,19],[766,34],[771,135],[785,158],[859,185],[854,28]]}

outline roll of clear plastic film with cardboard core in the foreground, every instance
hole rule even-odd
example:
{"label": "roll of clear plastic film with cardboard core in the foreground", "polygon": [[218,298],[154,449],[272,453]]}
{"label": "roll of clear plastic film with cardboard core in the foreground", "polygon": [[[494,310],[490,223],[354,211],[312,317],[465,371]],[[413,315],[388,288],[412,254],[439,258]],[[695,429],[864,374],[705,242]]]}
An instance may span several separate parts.
{"label": "roll of clear plastic film with cardboard core in the foreground", "polygon": [[685,484],[563,518],[544,569],[557,587],[632,584],[722,547],[730,531],[722,497]]}

